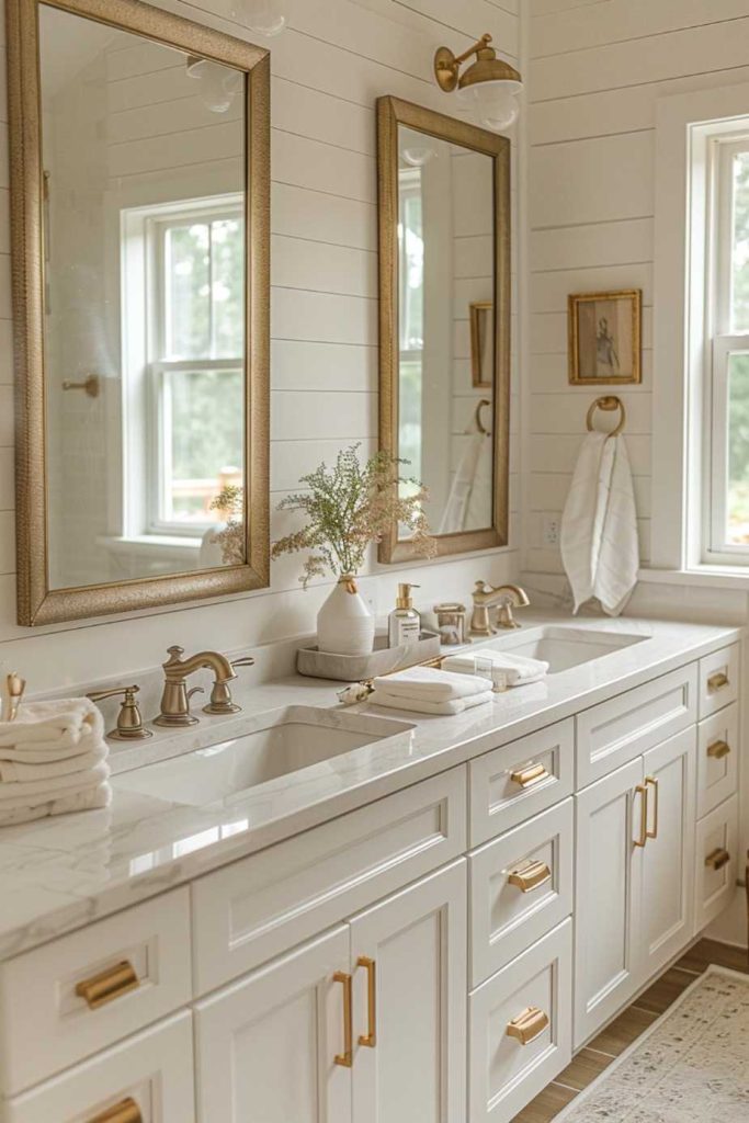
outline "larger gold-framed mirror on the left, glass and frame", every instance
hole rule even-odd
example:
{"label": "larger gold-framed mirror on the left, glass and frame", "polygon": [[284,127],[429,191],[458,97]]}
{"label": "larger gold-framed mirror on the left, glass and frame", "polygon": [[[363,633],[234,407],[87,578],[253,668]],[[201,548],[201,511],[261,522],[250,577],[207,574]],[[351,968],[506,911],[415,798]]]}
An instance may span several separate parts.
{"label": "larger gold-framed mirror on the left, glass and frame", "polygon": [[268,53],[6,8],[18,621],[267,586]]}

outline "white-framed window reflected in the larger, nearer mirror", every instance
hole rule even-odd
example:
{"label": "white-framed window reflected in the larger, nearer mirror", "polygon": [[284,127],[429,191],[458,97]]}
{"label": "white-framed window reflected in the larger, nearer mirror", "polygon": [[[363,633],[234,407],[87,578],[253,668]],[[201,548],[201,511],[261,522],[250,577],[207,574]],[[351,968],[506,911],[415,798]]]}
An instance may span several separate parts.
{"label": "white-framed window reflected in the larger, nearer mirror", "polygon": [[124,533],[198,539],[243,478],[241,198],[124,212],[122,263]]}

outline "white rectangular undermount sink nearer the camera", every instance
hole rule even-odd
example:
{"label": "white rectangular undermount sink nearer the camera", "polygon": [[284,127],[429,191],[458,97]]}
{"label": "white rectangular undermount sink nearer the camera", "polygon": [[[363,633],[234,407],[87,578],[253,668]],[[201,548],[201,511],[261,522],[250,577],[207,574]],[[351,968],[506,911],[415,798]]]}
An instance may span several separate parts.
{"label": "white rectangular undermount sink nearer the camera", "polygon": [[252,732],[122,773],[112,783],[121,791],[201,807],[351,749],[410,736],[412,729],[391,718],[289,706]]}

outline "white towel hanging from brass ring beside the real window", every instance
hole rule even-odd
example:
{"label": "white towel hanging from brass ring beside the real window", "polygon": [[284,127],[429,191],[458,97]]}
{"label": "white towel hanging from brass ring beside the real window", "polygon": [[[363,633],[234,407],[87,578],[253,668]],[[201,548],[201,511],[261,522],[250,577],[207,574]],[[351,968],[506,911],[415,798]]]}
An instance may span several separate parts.
{"label": "white towel hanging from brass ring beside the real window", "polygon": [[597,596],[618,617],[640,564],[632,473],[623,437],[591,432],[575,466],[561,515],[561,560],[576,613]]}

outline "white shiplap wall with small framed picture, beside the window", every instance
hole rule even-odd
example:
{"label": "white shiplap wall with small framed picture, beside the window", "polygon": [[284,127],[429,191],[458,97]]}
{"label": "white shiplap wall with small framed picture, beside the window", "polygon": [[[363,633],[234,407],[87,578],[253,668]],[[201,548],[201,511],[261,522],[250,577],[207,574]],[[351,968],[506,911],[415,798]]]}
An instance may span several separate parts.
{"label": "white shiplap wall with small framed picture, beside the window", "polygon": [[[529,0],[529,326],[523,568],[560,574],[564,505],[594,392],[567,383],[572,292],[643,291],[642,385],[620,387],[642,560],[650,545],[655,119],[659,97],[747,81],[747,0]],[[547,582],[547,587],[554,583]]]}

